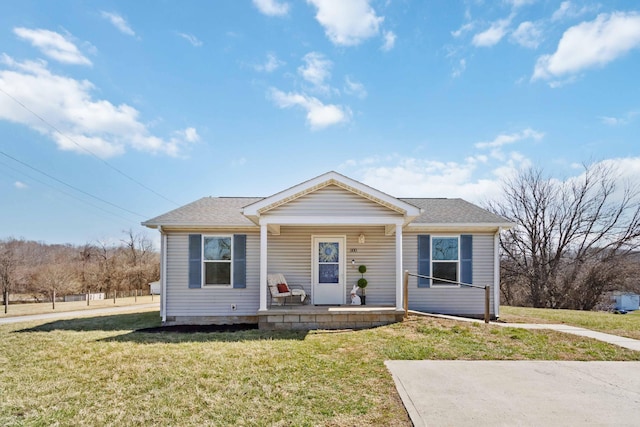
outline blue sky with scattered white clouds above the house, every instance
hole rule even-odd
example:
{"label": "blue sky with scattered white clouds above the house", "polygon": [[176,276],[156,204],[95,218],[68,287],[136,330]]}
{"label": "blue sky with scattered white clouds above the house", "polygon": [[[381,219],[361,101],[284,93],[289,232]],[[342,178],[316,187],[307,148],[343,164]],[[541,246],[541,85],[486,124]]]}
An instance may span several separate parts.
{"label": "blue sky with scattered white clouds above the house", "polygon": [[639,75],[635,1],[6,2],[0,238],[117,240],[330,170],[476,203],[529,166],[638,183]]}

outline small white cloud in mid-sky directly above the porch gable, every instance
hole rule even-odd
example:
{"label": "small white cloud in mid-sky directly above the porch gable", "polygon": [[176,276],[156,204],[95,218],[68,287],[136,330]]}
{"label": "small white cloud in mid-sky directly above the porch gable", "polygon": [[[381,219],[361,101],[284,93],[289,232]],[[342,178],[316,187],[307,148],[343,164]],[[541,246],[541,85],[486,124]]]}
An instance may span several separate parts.
{"label": "small white cloud in mid-sky directly above the porch gable", "polygon": [[346,123],[351,120],[351,110],[346,107],[323,104],[319,99],[301,93],[285,93],[271,88],[269,97],[280,108],[301,107],[307,112],[307,124],[312,130]]}

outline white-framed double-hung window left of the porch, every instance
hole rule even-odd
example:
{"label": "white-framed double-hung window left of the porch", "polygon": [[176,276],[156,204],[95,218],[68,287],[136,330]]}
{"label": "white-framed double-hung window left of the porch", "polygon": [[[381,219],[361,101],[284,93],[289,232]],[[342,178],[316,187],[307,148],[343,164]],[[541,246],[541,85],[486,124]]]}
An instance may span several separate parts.
{"label": "white-framed double-hung window left of the porch", "polygon": [[231,236],[203,236],[204,286],[231,286],[233,283],[232,242]]}

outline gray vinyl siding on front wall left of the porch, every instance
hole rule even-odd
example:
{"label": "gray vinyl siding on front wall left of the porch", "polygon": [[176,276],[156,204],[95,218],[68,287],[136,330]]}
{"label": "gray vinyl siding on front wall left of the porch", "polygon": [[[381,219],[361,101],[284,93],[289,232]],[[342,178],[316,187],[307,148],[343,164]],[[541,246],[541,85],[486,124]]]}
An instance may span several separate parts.
{"label": "gray vinyl siding on front wall left of the porch", "polygon": [[[209,233],[215,234],[215,233]],[[224,232],[220,234],[233,234]],[[238,233],[240,234],[240,233]],[[167,316],[252,316],[260,303],[260,234],[247,234],[247,287],[190,289],[189,235],[167,235]],[[231,305],[237,309],[233,311]]]}

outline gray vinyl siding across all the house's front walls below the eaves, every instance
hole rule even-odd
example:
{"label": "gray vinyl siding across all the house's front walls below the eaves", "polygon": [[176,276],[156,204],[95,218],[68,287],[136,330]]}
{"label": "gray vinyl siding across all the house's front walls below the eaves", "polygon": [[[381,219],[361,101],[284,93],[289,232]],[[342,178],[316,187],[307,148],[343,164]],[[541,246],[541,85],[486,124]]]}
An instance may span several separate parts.
{"label": "gray vinyl siding across all the house's front walls below the eaves", "polygon": [[[365,235],[365,243],[358,236]],[[213,233],[211,233],[213,234]],[[233,234],[225,232],[223,234]],[[167,316],[252,316],[260,301],[260,235],[247,234],[247,287],[245,289],[188,287],[188,233],[167,235]],[[417,272],[418,233],[403,234],[403,270]],[[427,233],[420,233],[427,234]],[[365,278],[367,305],[395,305],[395,235],[386,236],[382,226],[282,226],[279,236],[268,236],[268,273],[283,273],[291,285],[302,285],[311,295],[311,236],[346,236],[345,301],[360,278],[359,265],[367,266]],[[432,234],[434,235],[434,234]],[[473,283],[493,284],[493,234],[473,235]],[[356,261],[355,266],[351,260]],[[493,312],[493,289],[491,310]],[[232,311],[235,304],[237,310]],[[434,313],[481,315],[484,293],[481,289],[432,287],[418,288],[417,279],[409,280],[409,308]]]}

